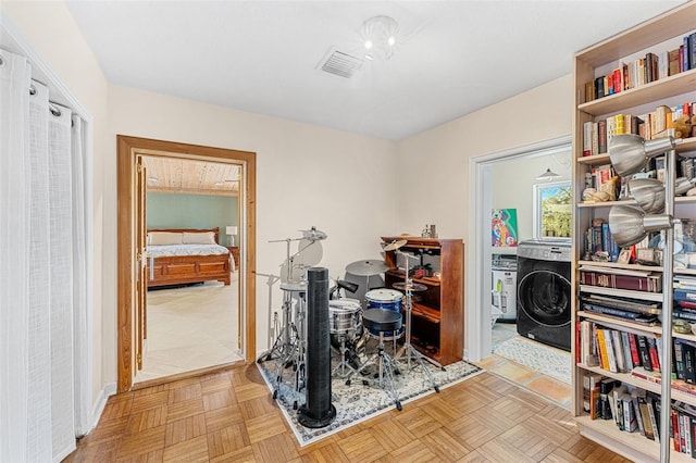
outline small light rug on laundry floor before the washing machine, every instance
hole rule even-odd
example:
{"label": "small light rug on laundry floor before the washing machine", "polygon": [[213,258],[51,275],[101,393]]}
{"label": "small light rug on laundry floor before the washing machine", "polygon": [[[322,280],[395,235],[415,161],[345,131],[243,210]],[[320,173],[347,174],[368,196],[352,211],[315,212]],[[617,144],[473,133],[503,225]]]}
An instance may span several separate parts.
{"label": "small light rug on laundry floor before the washing machine", "polygon": [[515,336],[500,343],[494,353],[570,384],[570,352]]}

